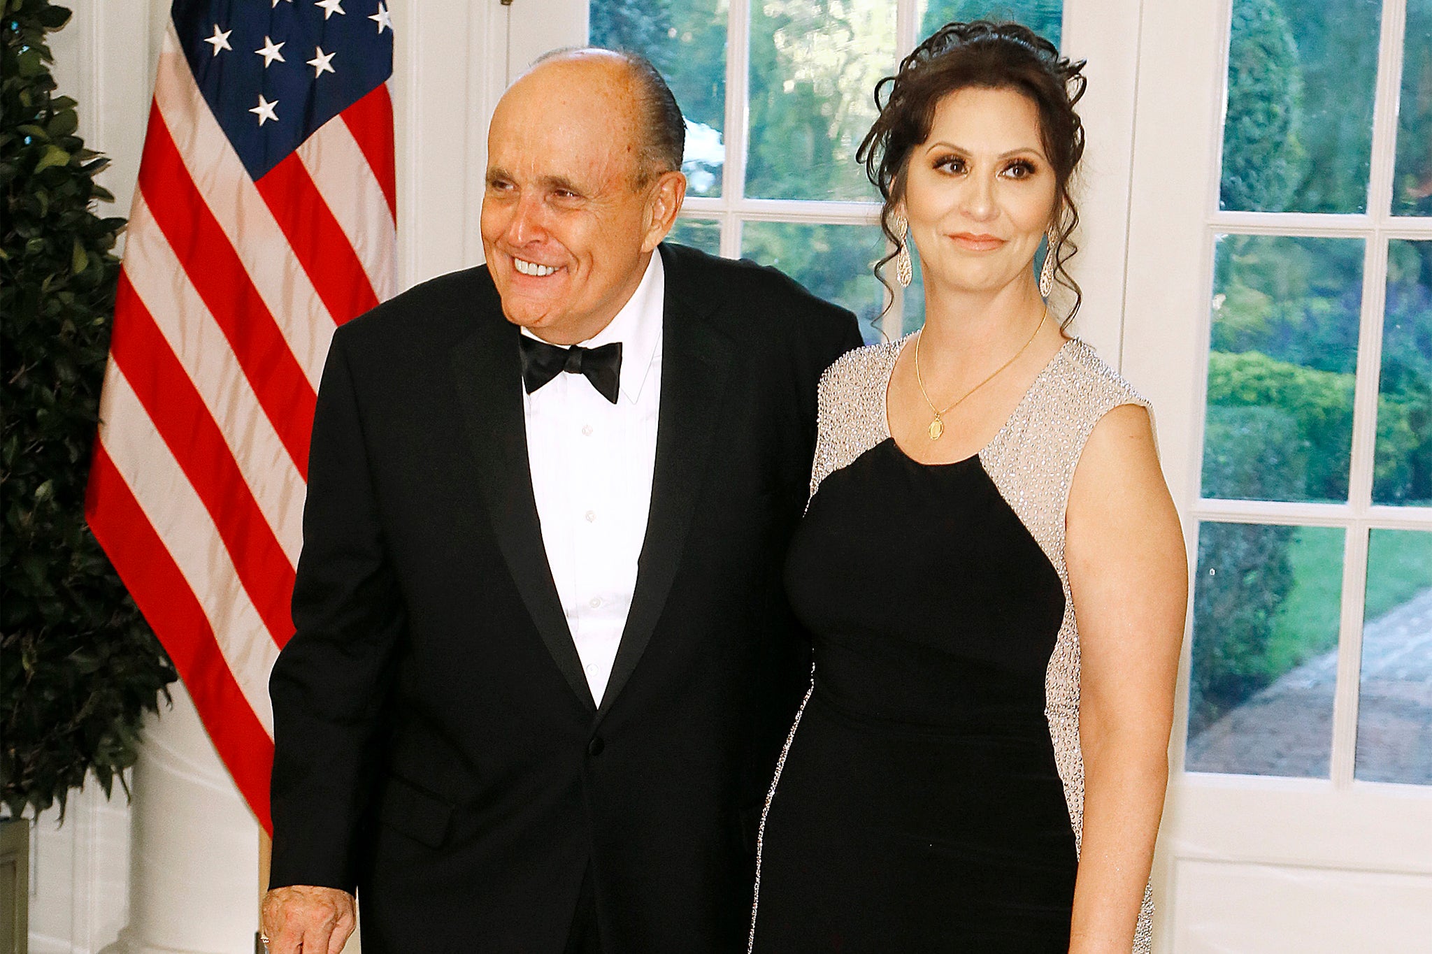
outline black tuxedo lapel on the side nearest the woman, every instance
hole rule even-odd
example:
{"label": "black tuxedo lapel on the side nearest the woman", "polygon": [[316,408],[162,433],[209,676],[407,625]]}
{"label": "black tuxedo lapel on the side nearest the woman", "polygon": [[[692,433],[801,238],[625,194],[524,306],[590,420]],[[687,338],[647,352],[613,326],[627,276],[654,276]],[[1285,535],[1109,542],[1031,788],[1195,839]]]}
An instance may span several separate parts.
{"label": "black tuxedo lapel on the side nearest the woman", "polygon": [[[663,247],[664,252],[664,247]],[[705,483],[706,459],[722,419],[736,342],[712,326],[696,289],[683,282],[673,256],[663,255],[666,300],[662,319],[662,403],[656,425],[656,469],[636,591],[611,665],[600,719],[611,708],[646,652],[692,526]],[[709,295],[707,295],[709,297]]]}

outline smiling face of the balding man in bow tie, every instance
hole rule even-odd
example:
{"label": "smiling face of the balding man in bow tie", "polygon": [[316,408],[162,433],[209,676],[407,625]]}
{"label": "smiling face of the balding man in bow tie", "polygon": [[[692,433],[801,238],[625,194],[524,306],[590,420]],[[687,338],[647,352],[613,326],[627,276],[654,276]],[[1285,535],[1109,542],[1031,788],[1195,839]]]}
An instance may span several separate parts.
{"label": "smiling face of the balding man in bow tie", "polygon": [[537,66],[493,114],[483,250],[507,320],[553,343],[606,328],[669,227],[660,179],[637,187],[637,116],[601,54]]}

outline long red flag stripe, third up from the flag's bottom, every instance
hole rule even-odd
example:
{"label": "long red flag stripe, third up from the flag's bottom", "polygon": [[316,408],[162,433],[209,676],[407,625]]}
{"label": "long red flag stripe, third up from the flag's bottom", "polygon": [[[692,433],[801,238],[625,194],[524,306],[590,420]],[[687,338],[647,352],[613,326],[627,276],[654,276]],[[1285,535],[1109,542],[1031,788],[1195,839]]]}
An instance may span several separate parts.
{"label": "long red flag stripe, third up from the flag's bottom", "polygon": [[139,189],[195,290],[233,349],[294,466],[308,479],[314,388],[253,287],[229,236],[189,177],[158,103],[149,112]]}

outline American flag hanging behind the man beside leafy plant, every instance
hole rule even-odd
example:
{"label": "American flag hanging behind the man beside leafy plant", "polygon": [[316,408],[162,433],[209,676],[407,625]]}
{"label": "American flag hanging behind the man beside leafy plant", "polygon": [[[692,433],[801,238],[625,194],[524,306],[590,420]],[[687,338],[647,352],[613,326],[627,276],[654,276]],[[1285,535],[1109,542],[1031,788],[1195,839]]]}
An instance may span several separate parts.
{"label": "American flag hanging behind the man beside leafy plant", "polygon": [[392,293],[392,24],[369,0],[176,0],[115,302],[86,515],[271,830],[334,329]]}

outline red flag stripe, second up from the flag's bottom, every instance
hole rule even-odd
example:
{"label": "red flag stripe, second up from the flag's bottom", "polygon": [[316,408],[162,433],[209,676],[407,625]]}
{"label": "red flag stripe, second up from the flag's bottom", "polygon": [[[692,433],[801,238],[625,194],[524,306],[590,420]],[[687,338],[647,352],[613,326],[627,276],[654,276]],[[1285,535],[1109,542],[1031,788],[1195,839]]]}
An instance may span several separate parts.
{"label": "red flag stripe, second up from the flag's bottom", "polygon": [[282,646],[294,631],[289,609],[294,568],[189,373],[123,270],[115,293],[115,333],[109,348],[219,528],[259,618],[274,642]]}

